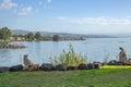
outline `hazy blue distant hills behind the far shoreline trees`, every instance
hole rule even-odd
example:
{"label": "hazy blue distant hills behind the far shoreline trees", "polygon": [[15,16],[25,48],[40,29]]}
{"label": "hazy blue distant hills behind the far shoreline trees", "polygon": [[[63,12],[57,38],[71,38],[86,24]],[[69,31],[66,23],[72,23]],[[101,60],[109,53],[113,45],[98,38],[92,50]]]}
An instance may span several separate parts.
{"label": "hazy blue distant hills behind the far shoreline trees", "polygon": [[[31,33],[29,30],[22,30],[22,29],[11,29],[12,34],[21,34],[26,35],[27,33]],[[36,32],[32,32],[36,33]],[[68,33],[49,33],[49,32],[40,32],[43,36],[53,36],[53,35],[60,35],[61,37],[85,37],[85,38],[115,38],[117,36],[110,36],[110,35],[83,35],[83,34],[68,34]]]}

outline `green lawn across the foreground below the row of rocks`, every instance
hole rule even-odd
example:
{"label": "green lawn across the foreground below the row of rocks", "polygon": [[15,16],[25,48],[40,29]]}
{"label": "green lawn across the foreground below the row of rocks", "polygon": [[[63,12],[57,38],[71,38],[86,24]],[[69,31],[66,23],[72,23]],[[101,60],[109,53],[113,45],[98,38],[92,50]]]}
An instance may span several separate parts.
{"label": "green lawn across the foreground below the row of rocks", "polygon": [[131,70],[0,73],[0,87],[130,87]]}

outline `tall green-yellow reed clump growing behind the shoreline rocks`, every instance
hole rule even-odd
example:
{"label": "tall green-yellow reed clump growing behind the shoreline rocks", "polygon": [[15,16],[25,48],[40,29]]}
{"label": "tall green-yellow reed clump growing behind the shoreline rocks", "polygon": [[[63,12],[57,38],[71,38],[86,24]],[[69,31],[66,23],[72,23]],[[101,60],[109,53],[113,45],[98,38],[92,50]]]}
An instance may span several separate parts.
{"label": "tall green-yellow reed clump growing behind the shoreline rocks", "polygon": [[55,64],[66,66],[78,66],[79,64],[87,63],[87,59],[80,53],[76,53],[70,45],[69,51],[63,50],[59,57],[55,57]]}

